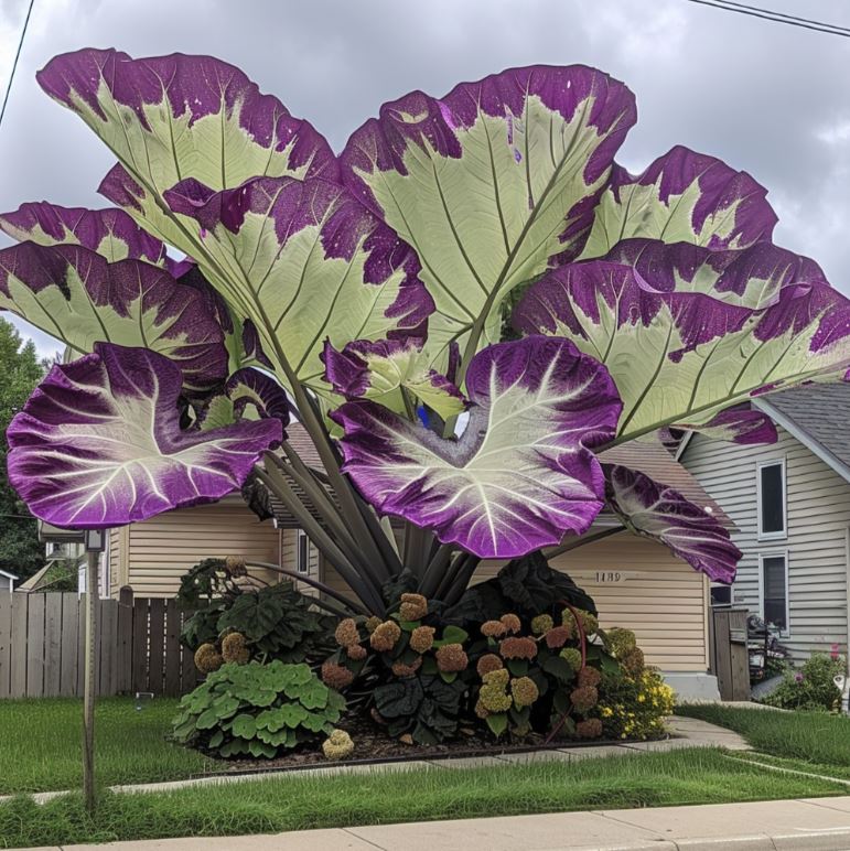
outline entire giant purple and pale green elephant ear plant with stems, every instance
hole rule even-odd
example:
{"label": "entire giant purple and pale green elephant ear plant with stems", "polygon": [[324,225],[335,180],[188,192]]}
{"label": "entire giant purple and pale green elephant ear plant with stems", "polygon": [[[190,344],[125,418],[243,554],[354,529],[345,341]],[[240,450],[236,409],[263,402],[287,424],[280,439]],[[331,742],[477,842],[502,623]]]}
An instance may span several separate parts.
{"label": "entire giant purple and pale green elephant ear plant with stems", "polygon": [[[114,208],[0,217],[22,240],[0,308],[82,355],[8,433],[51,523],[119,526],[250,478],[356,599],[325,590],[383,614],[402,573],[452,603],[481,559],[592,540],[607,505],[728,581],[722,526],[598,453],[684,428],[770,441],[753,396],[847,378],[850,303],[772,244],[765,191],[684,148],[628,174],[634,98],[592,68],[411,93],[338,157],[209,57],[84,50],[39,82],[118,160]],[[499,342],[509,304],[521,336]]]}

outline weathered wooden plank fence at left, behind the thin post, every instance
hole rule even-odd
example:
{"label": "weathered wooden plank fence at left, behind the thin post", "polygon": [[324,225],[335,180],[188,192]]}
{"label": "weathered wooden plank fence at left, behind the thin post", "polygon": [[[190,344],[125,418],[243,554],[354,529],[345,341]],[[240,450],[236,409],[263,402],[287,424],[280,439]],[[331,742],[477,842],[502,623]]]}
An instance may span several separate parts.
{"label": "weathered wooden plank fence at left, behind the thin post", "polygon": [[[82,697],[85,599],[76,592],[0,593],[0,699]],[[198,680],[180,644],[191,613],[175,600],[98,600],[97,693],[176,697]]]}

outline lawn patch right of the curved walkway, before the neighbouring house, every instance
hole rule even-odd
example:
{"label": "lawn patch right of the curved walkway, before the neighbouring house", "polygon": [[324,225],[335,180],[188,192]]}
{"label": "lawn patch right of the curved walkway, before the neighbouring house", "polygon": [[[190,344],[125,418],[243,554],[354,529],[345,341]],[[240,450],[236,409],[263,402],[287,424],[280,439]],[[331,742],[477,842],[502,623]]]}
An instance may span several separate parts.
{"label": "lawn patch right of the curved walkway, before the neighbouring house", "polygon": [[679,707],[676,712],[734,730],[765,754],[819,766],[850,766],[850,718],[843,715],[711,704]]}

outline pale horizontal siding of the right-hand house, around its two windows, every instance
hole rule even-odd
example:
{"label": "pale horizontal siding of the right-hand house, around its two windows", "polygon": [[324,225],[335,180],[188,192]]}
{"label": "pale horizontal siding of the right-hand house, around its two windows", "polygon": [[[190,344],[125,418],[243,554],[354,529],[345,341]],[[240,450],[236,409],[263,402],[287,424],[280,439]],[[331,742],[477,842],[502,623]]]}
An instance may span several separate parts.
{"label": "pale horizontal siding of the right-hand house, around its two windows", "polygon": [[[782,638],[796,660],[813,650],[847,646],[847,528],[850,483],[778,428],[770,446],[739,446],[695,434],[681,462],[723,507],[744,553],[733,600],[761,611],[760,554],[788,553],[789,631]],[[756,465],[784,460],[787,537],[758,540]]]}

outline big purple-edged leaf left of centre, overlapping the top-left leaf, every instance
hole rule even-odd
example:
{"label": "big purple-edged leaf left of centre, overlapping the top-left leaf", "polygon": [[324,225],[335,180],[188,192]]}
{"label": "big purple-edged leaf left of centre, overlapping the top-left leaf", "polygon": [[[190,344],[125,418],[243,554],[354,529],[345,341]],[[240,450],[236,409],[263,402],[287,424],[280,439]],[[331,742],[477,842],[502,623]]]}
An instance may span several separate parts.
{"label": "big purple-edged leaf left of centre, overlapping the top-left leaf", "polygon": [[268,360],[280,368],[284,358],[321,392],[326,338],[342,348],[418,333],[433,309],[410,247],[338,184],[257,177],[214,192],[186,180],[165,198],[205,231],[202,271],[230,270],[219,289]]}

